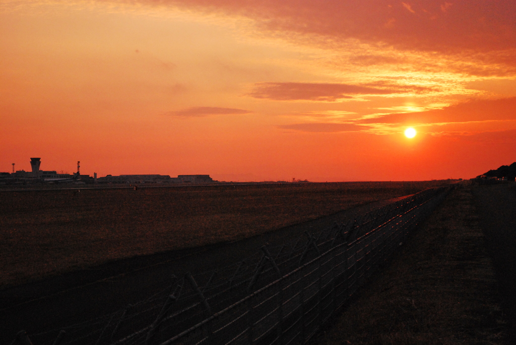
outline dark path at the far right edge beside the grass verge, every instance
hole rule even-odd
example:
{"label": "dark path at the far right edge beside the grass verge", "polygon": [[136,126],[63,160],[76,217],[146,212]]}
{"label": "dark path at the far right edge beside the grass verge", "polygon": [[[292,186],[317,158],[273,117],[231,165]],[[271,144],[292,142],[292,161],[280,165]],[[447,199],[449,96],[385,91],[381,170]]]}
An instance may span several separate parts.
{"label": "dark path at the far right edge beside the grass verge", "polygon": [[473,193],[480,226],[493,257],[512,343],[516,343],[516,186],[478,186]]}

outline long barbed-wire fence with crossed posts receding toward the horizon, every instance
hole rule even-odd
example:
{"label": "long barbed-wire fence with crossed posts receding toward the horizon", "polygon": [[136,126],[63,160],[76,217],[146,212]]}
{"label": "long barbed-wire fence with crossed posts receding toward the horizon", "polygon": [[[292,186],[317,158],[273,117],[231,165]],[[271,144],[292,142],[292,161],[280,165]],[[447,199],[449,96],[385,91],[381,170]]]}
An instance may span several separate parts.
{"label": "long barbed-wire fence with crossed posts receding toward the horizon", "polygon": [[425,190],[358,219],[306,232],[304,241],[268,245],[195,277],[187,273],[116,313],[29,337],[38,345],[52,334],[60,345],[305,343],[449,189]]}

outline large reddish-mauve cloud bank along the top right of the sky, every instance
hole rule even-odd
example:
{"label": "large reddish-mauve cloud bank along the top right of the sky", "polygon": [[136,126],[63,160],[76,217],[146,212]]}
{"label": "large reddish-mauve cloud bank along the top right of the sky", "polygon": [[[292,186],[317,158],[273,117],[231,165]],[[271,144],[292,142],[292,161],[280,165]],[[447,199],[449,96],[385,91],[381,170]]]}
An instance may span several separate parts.
{"label": "large reddish-mauve cloud bank along the top right of the sky", "polygon": [[255,20],[260,28],[286,36],[297,32],[332,40],[357,38],[429,51],[487,52],[516,45],[514,7],[503,0],[470,0],[453,6],[435,0],[392,5],[382,0],[256,0],[252,5],[237,0],[142,2],[241,15]]}

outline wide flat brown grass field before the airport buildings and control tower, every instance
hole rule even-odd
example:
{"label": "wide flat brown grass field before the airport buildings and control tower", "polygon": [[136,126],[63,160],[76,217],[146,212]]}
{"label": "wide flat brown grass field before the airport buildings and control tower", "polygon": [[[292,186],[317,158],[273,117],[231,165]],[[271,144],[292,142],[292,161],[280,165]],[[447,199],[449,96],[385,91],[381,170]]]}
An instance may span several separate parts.
{"label": "wide flat brown grass field before the airport buildings and control tower", "polygon": [[234,241],[449,182],[0,191],[0,288]]}

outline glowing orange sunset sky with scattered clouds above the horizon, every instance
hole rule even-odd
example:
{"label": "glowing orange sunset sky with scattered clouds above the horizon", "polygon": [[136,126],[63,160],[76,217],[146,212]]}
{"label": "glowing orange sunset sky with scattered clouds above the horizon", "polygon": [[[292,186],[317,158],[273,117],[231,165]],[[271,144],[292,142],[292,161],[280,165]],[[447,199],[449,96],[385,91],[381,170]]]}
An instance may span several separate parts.
{"label": "glowing orange sunset sky with scattered clouds above the horizon", "polygon": [[516,161],[516,2],[1,0],[0,171],[29,157],[99,176],[471,178]]}

